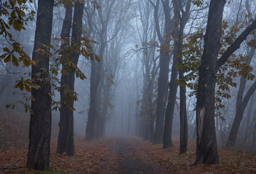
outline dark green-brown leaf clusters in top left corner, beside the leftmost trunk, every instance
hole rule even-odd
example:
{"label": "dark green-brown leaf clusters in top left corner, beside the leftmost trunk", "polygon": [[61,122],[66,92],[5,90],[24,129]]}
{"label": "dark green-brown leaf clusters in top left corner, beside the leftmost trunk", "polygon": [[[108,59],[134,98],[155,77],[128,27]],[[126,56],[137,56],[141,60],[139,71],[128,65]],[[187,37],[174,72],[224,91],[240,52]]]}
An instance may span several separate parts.
{"label": "dark green-brown leaf clusters in top left corner, beside the leftmost trunk", "polygon": [[[32,2],[29,0],[29,3]],[[13,40],[10,33],[12,29],[15,31],[26,30],[25,25],[28,24],[28,21],[33,21],[35,11],[30,11],[26,3],[27,0],[10,0],[4,1],[0,7],[0,36],[4,36],[5,40],[12,46],[12,50],[7,47],[3,48],[4,54],[0,55],[0,59],[3,59],[4,62],[12,61],[15,66],[19,66],[20,62],[23,62],[24,66],[36,66],[35,62],[31,61],[28,54],[24,52],[20,43]]]}

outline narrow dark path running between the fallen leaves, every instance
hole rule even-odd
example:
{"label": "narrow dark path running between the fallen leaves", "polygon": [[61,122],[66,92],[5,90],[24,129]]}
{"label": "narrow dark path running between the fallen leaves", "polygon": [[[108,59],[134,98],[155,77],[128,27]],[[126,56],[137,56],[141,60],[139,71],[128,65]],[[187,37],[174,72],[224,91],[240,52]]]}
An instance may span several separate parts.
{"label": "narrow dark path running between the fallen leaves", "polygon": [[158,168],[141,161],[138,144],[129,138],[119,138],[113,150],[118,154],[118,168],[120,173],[163,173]]}

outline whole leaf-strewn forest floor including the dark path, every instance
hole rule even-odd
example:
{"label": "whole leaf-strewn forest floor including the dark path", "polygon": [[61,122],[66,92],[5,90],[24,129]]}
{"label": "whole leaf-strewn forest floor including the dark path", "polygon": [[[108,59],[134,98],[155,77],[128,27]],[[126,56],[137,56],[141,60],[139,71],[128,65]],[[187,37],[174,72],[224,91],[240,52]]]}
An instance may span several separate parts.
{"label": "whole leaf-strewn forest floor including the dark path", "polygon": [[[75,156],[56,154],[58,130],[52,129],[49,171],[26,168],[28,120],[0,118],[0,174],[2,173],[256,173],[256,154],[218,149],[220,164],[193,166],[195,141],[179,154],[179,138],[173,148],[153,145],[136,136],[108,136],[85,141],[75,138]],[[3,124],[4,123],[4,124]],[[58,126],[54,126],[58,127]]]}

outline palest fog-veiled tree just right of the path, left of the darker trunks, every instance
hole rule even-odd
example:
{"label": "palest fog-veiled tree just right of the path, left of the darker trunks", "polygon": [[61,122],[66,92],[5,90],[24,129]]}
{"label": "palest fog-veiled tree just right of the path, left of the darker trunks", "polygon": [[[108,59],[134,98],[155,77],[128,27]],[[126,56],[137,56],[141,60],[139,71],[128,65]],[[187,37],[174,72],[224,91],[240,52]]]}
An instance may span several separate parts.
{"label": "palest fog-veiled tree just right of the path, left of the darker trunks", "polygon": [[[140,1],[138,9],[140,11],[140,24],[141,28],[138,27],[137,31],[140,36],[141,48],[143,55],[141,56],[141,71],[143,73],[143,91],[141,99],[141,112],[140,112],[140,134],[145,140],[154,140],[154,106],[152,104],[154,99],[154,83],[157,75],[159,66],[156,57],[156,27],[150,26],[152,21],[153,6],[150,5],[149,1]],[[153,19],[154,20],[154,19]]]}

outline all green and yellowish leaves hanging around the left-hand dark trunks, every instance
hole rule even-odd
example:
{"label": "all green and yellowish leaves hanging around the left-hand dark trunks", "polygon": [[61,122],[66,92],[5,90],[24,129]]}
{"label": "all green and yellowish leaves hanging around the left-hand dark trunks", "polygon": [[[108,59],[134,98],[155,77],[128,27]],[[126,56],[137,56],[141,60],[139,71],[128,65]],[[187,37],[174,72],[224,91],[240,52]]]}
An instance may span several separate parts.
{"label": "all green and yellowish leaves hanging around the left-hand dark trunks", "polygon": [[[66,0],[65,0],[66,1]],[[65,1],[58,1],[56,5],[65,3]],[[72,0],[68,0],[72,1]],[[35,17],[35,11],[29,10],[26,3],[33,3],[32,0],[11,0],[11,1],[5,1],[1,5],[1,11],[0,11],[0,27],[1,27],[1,36],[4,36],[5,40],[9,43],[9,45],[12,46],[12,49],[8,47],[3,48],[3,55],[0,55],[0,59],[3,59],[3,62],[9,63],[12,62],[15,66],[19,66],[20,62],[23,63],[24,66],[36,66],[36,62],[32,61],[26,52],[24,52],[24,49],[20,43],[13,40],[11,30],[14,29],[15,31],[22,31],[26,30],[25,26],[28,24],[28,21],[33,21],[33,18]],[[99,8],[99,5],[97,2],[93,3],[93,7]],[[12,28],[11,28],[12,27]],[[86,34],[85,34],[86,35]],[[63,42],[63,40],[54,38],[54,40],[59,41],[60,43]],[[70,57],[71,54],[79,53],[86,57],[86,59],[96,61],[100,61],[100,57],[93,54],[92,52],[92,46],[91,43],[97,43],[92,40],[88,40],[88,38],[83,37],[81,38],[81,43],[78,45],[73,45],[60,48],[59,45],[41,45],[43,48],[36,50],[36,52],[40,54],[47,54],[50,55],[51,59],[53,60],[54,64],[50,65],[50,71],[52,73],[51,78],[53,78],[58,84],[60,84],[60,80],[58,79],[59,72],[64,75],[68,75],[68,72],[74,71],[77,78],[81,78],[81,80],[84,80],[86,76],[84,73],[77,68],[77,65],[74,64],[72,59]],[[64,57],[64,58],[63,58]],[[61,70],[61,64],[64,65],[67,69]],[[29,73],[29,76],[31,74]],[[38,79],[41,80],[42,79]],[[24,77],[21,77],[20,80],[16,81],[15,87],[17,89],[20,89],[20,91],[26,91],[31,92],[31,88],[38,89],[40,86],[33,84],[30,79],[24,79]],[[56,85],[55,83],[52,83],[53,89],[56,89],[56,91],[60,92],[60,87]],[[67,100],[77,100],[77,93],[66,88],[65,94],[67,94]],[[51,96],[54,96],[54,91],[51,92]],[[29,101],[31,99],[31,96],[28,96],[24,94],[26,101]],[[67,103],[68,101],[65,101]],[[31,108],[29,107],[28,103],[24,103],[24,101],[17,101],[17,103],[22,103],[24,105],[24,108],[26,112],[29,110],[29,112],[32,112]],[[54,101],[52,103],[53,109],[57,110],[57,108],[60,108],[60,102]],[[6,105],[6,108],[15,108],[15,105],[13,103],[10,103]],[[70,108],[71,110],[74,110],[74,108]]]}

